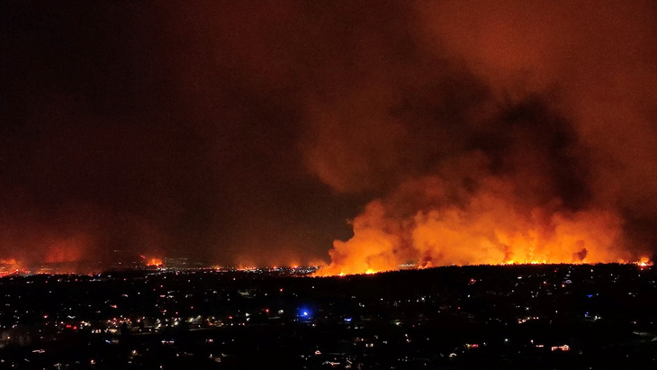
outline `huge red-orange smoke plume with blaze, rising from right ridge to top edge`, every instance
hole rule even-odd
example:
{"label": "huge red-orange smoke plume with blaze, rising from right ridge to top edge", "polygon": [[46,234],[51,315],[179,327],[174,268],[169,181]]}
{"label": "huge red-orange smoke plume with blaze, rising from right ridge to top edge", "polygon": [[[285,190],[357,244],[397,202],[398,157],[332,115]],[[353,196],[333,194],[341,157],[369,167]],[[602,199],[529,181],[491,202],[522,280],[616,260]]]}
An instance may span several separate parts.
{"label": "huge red-orange smoke plume with blaze, rising from right ridge to top edge", "polygon": [[[377,199],[320,274],[651,253],[655,8],[439,2],[311,111],[306,163]],[[372,45],[368,43],[368,45]],[[390,51],[390,49],[383,49]]]}

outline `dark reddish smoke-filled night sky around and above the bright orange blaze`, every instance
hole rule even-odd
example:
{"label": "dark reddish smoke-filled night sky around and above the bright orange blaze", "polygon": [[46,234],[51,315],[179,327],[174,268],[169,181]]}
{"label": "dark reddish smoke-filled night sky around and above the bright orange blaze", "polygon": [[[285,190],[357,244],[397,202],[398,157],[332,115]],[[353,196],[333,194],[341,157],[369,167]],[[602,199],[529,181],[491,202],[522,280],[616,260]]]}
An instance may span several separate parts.
{"label": "dark reddish smoke-filled night sky around and above the bright orange blaze", "polygon": [[329,262],[373,201],[654,250],[652,1],[0,6],[0,258]]}

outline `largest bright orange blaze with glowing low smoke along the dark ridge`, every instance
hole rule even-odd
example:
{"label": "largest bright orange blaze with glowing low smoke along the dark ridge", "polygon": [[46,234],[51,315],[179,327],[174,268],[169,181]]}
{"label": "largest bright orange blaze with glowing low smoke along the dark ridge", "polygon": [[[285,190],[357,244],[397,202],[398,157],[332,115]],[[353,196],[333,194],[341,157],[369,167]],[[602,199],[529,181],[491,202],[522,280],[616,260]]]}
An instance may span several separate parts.
{"label": "largest bright orange blaze with glowing low smoke along the dark ridge", "polygon": [[[316,275],[371,274],[402,266],[629,263],[636,258],[623,247],[623,221],[615,212],[573,212],[559,202],[528,206],[516,188],[494,176],[483,178],[476,193],[464,194],[458,184],[436,176],[369,203],[352,221],[354,236],[334,242],[332,262]],[[416,205],[408,205],[409,198]],[[404,207],[418,211],[401,212]],[[648,263],[643,258],[638,265]]]}

